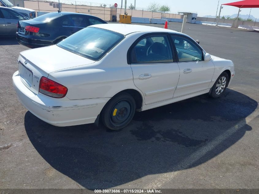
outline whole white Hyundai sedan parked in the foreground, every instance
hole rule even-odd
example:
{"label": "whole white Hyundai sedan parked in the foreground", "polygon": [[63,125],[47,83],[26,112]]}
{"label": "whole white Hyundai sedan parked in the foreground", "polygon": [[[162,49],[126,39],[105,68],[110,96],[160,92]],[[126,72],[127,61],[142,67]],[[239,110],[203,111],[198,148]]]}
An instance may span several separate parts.
{"label": "whole white Hyundai sedan parked in the foreground", "polygon": [[117,130],[135,111],[209,93],[222,96],[234,64],[191,37],[143,25],[92,25],[60,43],[23,51],[13,86],[22,104],[55,126]]}

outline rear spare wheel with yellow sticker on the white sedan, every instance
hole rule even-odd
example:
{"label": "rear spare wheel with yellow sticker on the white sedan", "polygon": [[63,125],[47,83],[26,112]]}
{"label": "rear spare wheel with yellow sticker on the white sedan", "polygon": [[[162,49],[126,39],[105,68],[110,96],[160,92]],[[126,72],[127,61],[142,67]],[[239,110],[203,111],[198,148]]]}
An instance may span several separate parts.
{"label": "rear spare wheel with yellow sticker on the white sedan", "polygon": [[105,127],[119,130],[126,127],[132,120],[136,110],[134,98],[126,93],[120,93],[105,105],[101,119]]}

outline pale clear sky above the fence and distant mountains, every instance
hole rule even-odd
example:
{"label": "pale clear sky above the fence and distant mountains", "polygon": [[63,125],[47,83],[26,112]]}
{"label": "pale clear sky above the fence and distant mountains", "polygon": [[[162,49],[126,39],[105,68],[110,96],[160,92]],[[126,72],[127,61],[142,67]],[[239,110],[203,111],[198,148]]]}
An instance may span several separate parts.
{"label": "pale clear sky above the fence and distant mountains", "polygon": [[[80,0],[85,1],[85,0]],[[121,0],[87,0],[88,2],[96,3],[105,3],[105,4],[114,4],[117,3],[121,5]],[[114,2],[113,2],[114,1]],[[236,2],[238,0],[219,0],[219,7],[221,4]],[[123,0],[124,5],[125,0]],[[186,11],[192,13],[198,13],[199,17],[204,15],[216,15],[218,0],[136,0],[136,7],[147,7],[150,2],[157,2],[160,5],[168,5],[170,7],[170,13],[177,13],[178,11]],[[134,0],[127,0],[127,7],[130,4],[134,5]],[[249,14],[250,8],[241,8],[240,14],[246,15]],[[238,7],[233,6],[223,6],[220,15],[232,15],[238,13]],[[219,10],[218,14],[219,15]],[[255,18],[258,18],[259,21],[259,8],[252,8],[251,15]]]}

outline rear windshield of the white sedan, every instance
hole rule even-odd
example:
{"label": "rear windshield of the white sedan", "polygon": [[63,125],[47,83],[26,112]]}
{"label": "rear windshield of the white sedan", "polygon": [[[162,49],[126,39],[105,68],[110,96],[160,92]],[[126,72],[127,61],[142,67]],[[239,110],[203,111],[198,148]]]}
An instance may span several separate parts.
{"label": "rear windshield of the white sedan", "polygon": [[57,46],[88,59],[99,60],[118,44],[124,35],[105,29],[87,27],[67,37]]}

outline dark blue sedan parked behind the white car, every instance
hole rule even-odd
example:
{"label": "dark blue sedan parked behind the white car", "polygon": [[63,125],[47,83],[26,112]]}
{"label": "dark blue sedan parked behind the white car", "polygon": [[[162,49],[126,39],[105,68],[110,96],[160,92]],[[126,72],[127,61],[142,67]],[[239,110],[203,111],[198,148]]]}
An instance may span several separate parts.
{"label": "dark blue sedan parked behind the white car", "polygon": [[59,43],[87,26],[106,24],[102,19],[74,12],[52,12],[32,20],[19,21],[16,32],[18,43],[38,48]]}

